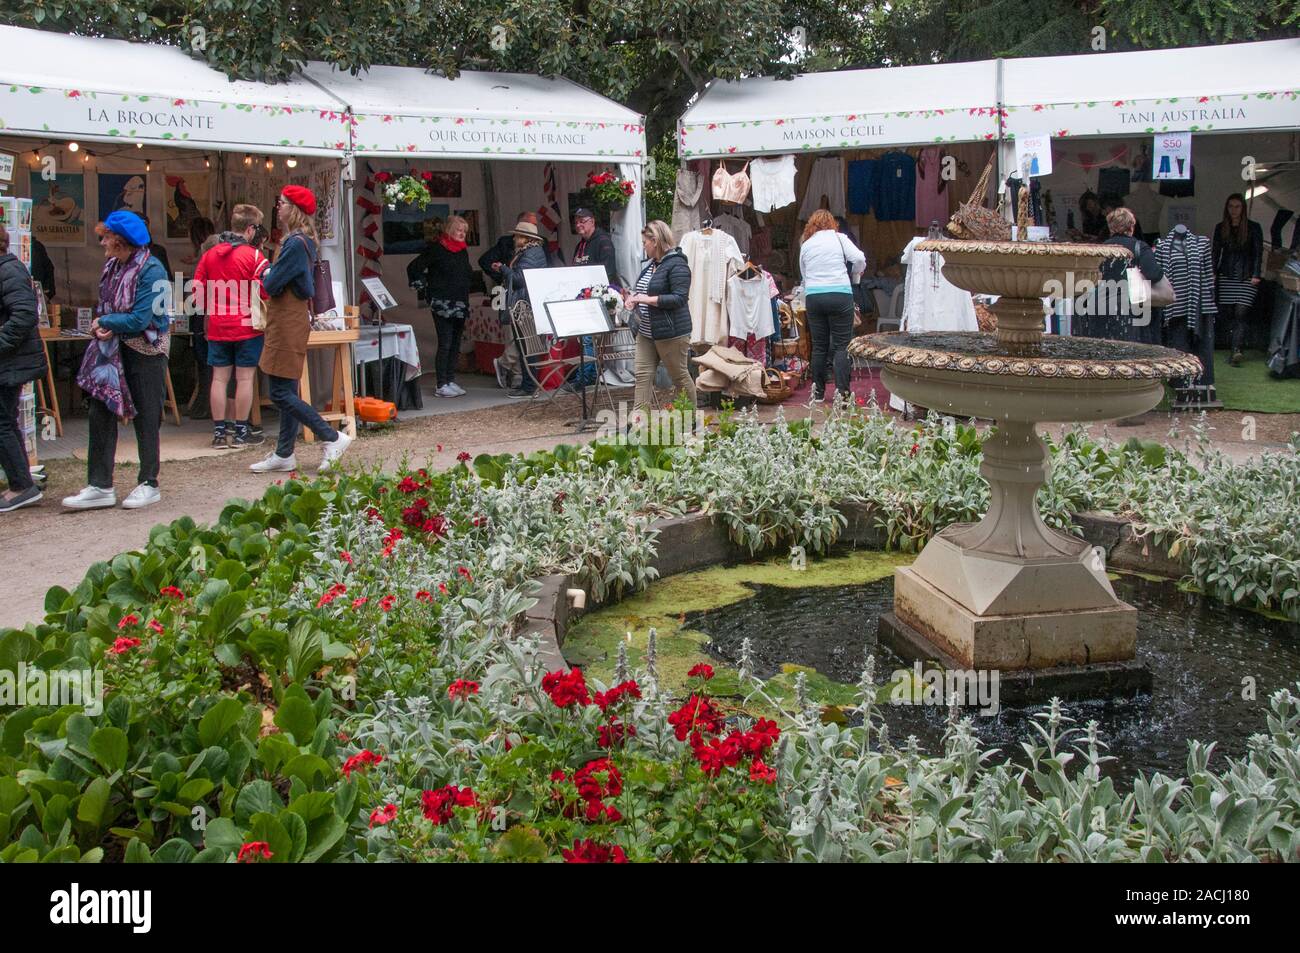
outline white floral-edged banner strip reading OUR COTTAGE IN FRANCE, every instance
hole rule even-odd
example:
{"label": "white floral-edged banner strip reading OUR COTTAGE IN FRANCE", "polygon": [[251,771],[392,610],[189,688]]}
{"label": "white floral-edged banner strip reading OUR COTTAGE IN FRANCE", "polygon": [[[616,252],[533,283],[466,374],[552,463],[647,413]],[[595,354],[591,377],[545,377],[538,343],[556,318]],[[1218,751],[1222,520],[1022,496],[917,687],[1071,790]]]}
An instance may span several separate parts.
{"label": "white floral-edged banner strip reading OUR COTTAGE IN FRANCE", "polygon": [[645,126],[566,120],[358,113],[358,153],[641,159]]}

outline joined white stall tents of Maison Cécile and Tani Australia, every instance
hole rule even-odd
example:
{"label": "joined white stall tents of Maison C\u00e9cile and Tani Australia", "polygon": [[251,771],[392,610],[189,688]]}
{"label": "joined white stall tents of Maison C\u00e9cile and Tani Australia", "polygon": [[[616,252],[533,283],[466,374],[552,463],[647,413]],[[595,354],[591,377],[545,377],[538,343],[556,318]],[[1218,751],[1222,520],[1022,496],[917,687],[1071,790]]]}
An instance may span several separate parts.
{"label": "joined white stall tents of Maison C\u00e9cile and Tani Australia", "polygon": [[[1105,211],[1126,205],[1178,302],[1157,308],[1149,326],[1126,321],[1117,330],[1089,325],[1074,315],[1074,295],[1061,295],[1045,302],[1056,313],[1044,329],[1196,355],[1202,374],[1175,381],[1170,406],[1216,407],[1216,348],[1261,374],[1297,369],[1297,130],[1300,40],[716,81],[679,122],[673,225],[689,233],[684,247],[707,220],[725,231],[701,243],[705,257],[696,259],[711,273],[718,256],[722,296],[731,276],[757,263],[780,287],[786,328],[797,329],[801,231],[827,208],[867,256],[859,333],[966,332],[992,329],[996,298],[953,286],[942,255],[918,242],[954,215],[1006,228],[1020,211],[1022,185],[1030,239],[1105,241]],[[1232,194],[1243,199],[1248,246],[1235,259],[1236,233],[1216,241]],[[971,213],[980,208],[984,217]],[[1234,260],[1247,270],[1238,274]],[[737,345],[742,335],[710,324],[708,307],[694,339],[725,343],[725,335]],[[1217,312],[1232,320],[1216,322]],[[779,345],[749,355],[794,371],[797,387],[807,355],[789,352]],[[863,380],[879,398],[872,372]],[[793,399],[806,394],[794,389]]]}

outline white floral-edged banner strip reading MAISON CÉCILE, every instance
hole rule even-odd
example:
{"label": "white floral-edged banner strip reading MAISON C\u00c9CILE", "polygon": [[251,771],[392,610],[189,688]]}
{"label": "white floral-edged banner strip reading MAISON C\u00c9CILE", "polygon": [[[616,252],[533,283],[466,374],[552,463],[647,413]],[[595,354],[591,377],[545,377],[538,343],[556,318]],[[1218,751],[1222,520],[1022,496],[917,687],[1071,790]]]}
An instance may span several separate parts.
{"label": "white floral-edged banner strip reading MAISON C\u00c9CILE", "polygon": [[930,142],[984,142],[997,138],[997,109],[918,109],[679,124],[677,151],[697,156],[785,155],[815,150],[872,148]]}

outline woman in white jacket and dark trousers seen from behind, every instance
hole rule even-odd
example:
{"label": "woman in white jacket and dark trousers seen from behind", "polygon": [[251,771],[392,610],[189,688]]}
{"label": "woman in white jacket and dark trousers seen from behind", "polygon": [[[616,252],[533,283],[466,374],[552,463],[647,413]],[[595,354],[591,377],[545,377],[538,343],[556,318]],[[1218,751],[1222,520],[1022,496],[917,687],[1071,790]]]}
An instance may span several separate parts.
{"label": "woman in white jacket and dark trousers seen from behind", "polygon": [[800,274],[812,335],[812,400],[826,399],[827,367],[835,367],[836,397],[849,399],[849,338],[853,337],[853,285],[867,256],[840,234],[835,216],[818,209],[803,228]]}

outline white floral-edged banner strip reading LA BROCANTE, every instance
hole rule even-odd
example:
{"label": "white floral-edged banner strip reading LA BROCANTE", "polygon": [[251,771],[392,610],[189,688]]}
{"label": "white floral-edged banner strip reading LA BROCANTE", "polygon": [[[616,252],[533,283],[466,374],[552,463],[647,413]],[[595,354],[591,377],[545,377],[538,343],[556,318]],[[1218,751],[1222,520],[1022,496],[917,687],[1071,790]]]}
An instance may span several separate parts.
{"label": "white floral-edged banner strip reading LA BROCANTE", "polygon": [[348,148],[348,122],[342,111],[0,86],[0,127],[12,134],[260,146],[318,155]]}

